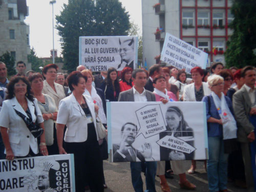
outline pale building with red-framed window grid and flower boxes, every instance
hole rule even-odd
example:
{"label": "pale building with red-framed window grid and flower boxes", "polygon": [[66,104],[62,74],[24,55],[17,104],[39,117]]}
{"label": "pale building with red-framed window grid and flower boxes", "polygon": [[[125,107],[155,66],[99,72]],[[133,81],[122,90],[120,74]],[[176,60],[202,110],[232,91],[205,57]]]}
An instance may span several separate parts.
{"label": "pale building with red-framed window grid and flower boxes", "polygon": [[[147,65],[163,48],[168,32],[208,53],[211,62],[223,62],[233,16],[231,0],[142,0],[143,57]],[[164,64],[164,63],[163,63]]]}

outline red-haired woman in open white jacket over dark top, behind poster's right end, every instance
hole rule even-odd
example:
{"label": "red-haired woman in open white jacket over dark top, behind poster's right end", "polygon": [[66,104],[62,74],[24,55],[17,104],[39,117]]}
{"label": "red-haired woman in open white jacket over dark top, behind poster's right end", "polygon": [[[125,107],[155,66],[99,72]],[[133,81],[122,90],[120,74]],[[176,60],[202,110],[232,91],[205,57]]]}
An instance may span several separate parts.
{"label": "red-haired woman in open white jacket over dark top, behind poster's right end", "polygon": [[[205,95],[209,95],[211,91],[208,88],[208,84],[203,82],[204,71],[200,67],[192,68],[191,76],[194,83],[188,84],[184,88],[183,100],[184,101],[202,101]],[[194,174],[197,164],[195,160],[191,161],[191,167],[188,170],[189,174]],[[205,161],[206,167],[206,161]]]}

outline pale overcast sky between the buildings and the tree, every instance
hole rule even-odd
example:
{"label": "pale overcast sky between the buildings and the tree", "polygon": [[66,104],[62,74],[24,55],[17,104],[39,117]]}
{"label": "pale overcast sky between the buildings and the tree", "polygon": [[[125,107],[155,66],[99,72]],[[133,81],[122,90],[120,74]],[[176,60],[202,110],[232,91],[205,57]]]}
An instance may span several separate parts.
{"label": "pale overcast sky between the buildings and the tree", "polygon": [[[129,12],[130,19],[135,22],[142,30],[141,0],[119,0],[125,10]],[[34,47],[38,57],[50,57],[52,44],[52,5],[50,0],[27,0],[29,7],[29,16],[25,23],[30,26],[30,47]],[[56,0],[54,4],[54,15],[59,15],[62,5],[68,3],[68,0]],[[56,25],[56,20],[54,21]],[[54,29],[54,49],[58,50],[60,55],[60,37],[57,30]]]}

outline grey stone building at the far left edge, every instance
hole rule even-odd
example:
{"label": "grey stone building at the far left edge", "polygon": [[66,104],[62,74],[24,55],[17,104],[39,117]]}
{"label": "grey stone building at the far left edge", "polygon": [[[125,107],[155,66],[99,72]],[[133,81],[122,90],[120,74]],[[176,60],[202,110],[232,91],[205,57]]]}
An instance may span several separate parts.
{"label": "grey stone building at the far left edge", "polygon": [[15,62],[22,60],[26,64],[30,44],[29,26],[24,20],[28,15],[26,0],[0,0],[0,55],[8,51]]}

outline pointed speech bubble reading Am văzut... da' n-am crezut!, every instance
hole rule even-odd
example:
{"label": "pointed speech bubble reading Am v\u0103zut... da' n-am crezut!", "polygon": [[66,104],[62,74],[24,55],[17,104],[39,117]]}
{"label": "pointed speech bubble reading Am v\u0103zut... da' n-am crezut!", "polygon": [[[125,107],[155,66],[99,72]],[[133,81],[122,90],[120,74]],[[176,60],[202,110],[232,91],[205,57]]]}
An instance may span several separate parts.
{"label": "pointed speech bubble reading Am v\u0103zut... da' n-am crezut!", "polygon": [[171,150],[176,150],[179,152],[190,154],[196,150],[194,146],[191,146],[187,141],[194,141],[194,137],[174,137],[174,133],[169,136],[166,135],[162,139],[157,141],[162,147],[170,148]]}

